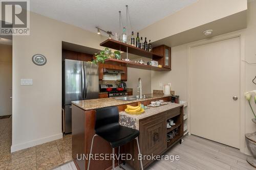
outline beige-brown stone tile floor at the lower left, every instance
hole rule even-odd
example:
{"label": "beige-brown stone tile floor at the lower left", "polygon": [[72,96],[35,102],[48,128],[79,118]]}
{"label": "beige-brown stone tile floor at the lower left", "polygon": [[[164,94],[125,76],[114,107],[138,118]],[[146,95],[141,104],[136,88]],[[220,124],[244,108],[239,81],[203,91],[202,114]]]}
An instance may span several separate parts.
{"label": "beige-brown stone tile floor at the lower left", "polygon": [[25,150],[10,152],[11,118],[0,119],[0,169],[52,169],[72,160],[72,138],[40,144]]}

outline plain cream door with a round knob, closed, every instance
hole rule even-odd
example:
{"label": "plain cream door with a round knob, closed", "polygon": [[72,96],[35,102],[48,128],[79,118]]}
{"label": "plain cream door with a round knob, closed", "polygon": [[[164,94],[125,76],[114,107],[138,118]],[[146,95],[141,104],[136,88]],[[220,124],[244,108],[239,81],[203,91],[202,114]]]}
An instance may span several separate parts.
{"label": "plain cream door with a round knob, closed", "polygon": [[239,64],[239,37],[191,47],[191,134],[239,148]]}

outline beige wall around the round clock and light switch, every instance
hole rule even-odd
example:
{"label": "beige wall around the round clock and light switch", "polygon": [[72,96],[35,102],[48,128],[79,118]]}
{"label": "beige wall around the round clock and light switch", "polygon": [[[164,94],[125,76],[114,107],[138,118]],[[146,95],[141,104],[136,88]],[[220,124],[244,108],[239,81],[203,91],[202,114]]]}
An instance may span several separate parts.
{"label": "beige wall around the round clock and light switch", "polygon": [[[102,49],[105,39],[31,12],[30,35],[13,36],[12,152],[62,137],[61,41]],[[35,65],[34,54],[45,55],[46,65]],[[20,86],[22,78],[33,85]]]}

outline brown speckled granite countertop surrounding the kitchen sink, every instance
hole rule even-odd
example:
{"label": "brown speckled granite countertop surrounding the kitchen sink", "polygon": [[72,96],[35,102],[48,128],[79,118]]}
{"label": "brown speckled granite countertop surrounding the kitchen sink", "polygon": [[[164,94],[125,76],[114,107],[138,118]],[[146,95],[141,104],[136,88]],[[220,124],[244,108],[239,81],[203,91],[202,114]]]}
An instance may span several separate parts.
{"label": "brown speckled granite countertop surrounding the kitchen sink", "polygon": [[155,100],[160,98],[165,98],[171,95],[163,95],[163,94],[145,94],[146,96],[152,96],[152,98],[147,99],[139,99],[134,101],[121,101],[114,98],[103,98],[103,99],[92,99],[92,100],[83,100],[83,101],[73,101],[72,104],[76,105],[77,107],[83,110],[92,110],[102,107],[108,106],[118,106],[118,105],[125,105],[129,103],[147,101],[147,100]]}

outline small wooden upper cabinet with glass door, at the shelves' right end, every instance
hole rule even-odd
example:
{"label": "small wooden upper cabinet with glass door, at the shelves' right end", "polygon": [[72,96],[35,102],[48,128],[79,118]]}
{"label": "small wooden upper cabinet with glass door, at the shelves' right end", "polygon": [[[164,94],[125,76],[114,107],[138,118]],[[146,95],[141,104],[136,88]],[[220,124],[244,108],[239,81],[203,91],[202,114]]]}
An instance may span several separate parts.
{"label": "small wooden upper cabinet with glass door, at the shelves' right end", "polygon": [[171,69],[170,47],[166,45],[156,46],[153,48],[153,52],[163,56],[161,58],[153,58],[153,60],[158,61],[158,64],[162,65],[162,67]]}

